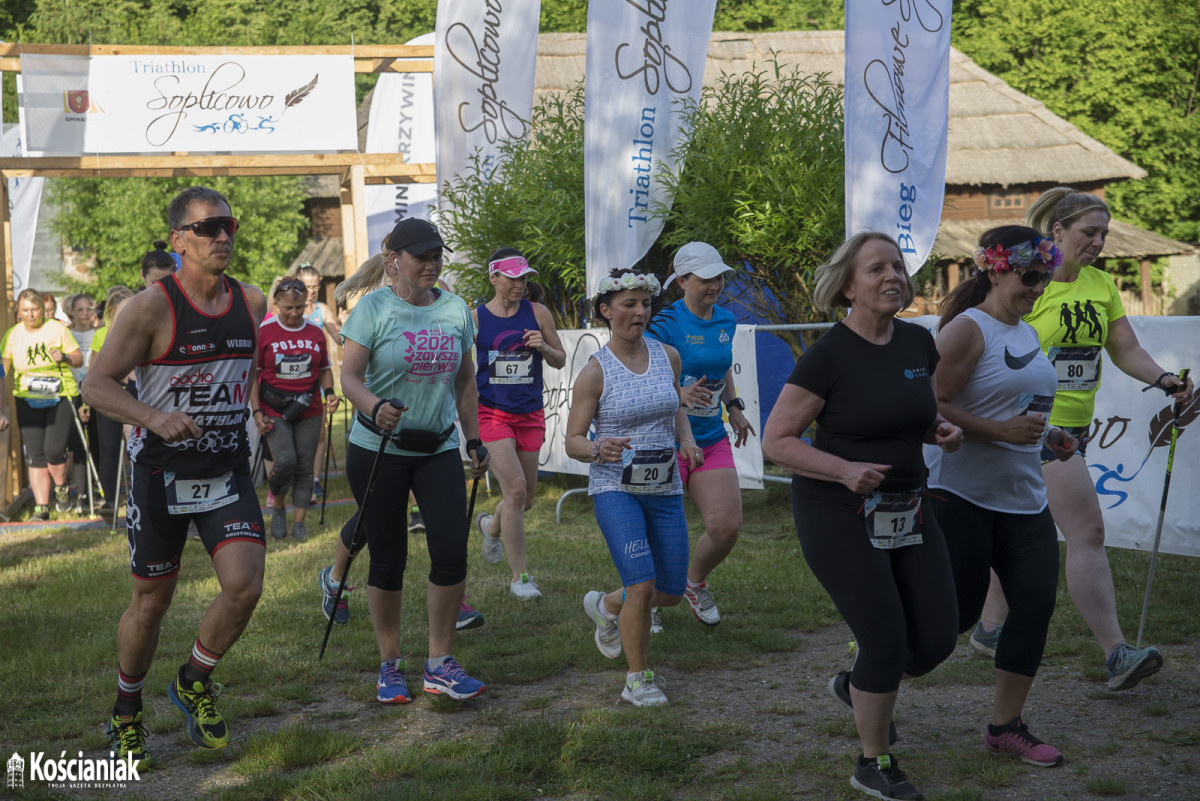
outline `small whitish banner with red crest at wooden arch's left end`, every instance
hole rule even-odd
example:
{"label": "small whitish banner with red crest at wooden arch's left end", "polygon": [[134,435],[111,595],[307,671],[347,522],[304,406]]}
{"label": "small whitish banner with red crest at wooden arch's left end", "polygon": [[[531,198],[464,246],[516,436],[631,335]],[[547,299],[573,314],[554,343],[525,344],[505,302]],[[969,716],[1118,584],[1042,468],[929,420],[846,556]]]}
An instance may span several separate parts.
{"label": "small whitish banner with red crest at wooden arch's left end", "polygon": [[88,92],[85,55],[20,56],[20,113],[29,153],[78,156],[88,119],[103,114]]}

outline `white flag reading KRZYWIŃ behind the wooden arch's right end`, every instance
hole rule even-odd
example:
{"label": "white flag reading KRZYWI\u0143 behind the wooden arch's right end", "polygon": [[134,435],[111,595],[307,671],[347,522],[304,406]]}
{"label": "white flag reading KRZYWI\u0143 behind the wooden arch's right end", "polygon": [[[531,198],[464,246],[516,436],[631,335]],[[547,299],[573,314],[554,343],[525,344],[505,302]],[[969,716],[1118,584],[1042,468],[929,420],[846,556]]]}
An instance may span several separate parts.
{"label": "white flag reading KRZYWI\u0143 behind the wooden arch's right end", "polygon": [[[433,44],[425,34],[404,44]],[[406,163],[437,159],[433,134],[433,76],[427,72],[385,72],[371,96],[367,122],[368,153],[400,153]],[[367,242],[371,252],[403,217],[430,219],[437,205],[437,183],[386,183],[366,188]]]}

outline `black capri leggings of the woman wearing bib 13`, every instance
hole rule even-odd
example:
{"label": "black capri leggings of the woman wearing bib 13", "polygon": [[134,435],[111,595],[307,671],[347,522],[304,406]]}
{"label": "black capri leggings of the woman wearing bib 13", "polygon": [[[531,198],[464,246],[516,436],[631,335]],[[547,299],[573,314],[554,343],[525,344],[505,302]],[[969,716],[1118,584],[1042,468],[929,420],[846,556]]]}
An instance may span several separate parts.
{"label": "black capri leggings of the woman wearing bib 13", "polygon": [[922,501],[923,542],[894,550],[871,546],[863,496],[816,499],[792,484],[792,517],[809,568],[858,643],[851,683],[869,693],[899,689],[904,674],[919,676],[954,650],[959,610],[946,541]]}

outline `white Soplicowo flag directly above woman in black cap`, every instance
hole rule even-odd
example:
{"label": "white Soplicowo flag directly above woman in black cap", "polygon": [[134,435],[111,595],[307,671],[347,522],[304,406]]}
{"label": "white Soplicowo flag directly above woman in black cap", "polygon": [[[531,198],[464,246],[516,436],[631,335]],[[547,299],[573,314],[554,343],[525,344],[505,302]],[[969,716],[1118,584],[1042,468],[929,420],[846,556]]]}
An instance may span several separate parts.
{"label": "white Soplicowo flag directly above woman in black cap", "polygon": [[492,163],[502,140],[527,135],[540,13],[541,0],[438,2],[438,186],[461,175],[476,151]]}

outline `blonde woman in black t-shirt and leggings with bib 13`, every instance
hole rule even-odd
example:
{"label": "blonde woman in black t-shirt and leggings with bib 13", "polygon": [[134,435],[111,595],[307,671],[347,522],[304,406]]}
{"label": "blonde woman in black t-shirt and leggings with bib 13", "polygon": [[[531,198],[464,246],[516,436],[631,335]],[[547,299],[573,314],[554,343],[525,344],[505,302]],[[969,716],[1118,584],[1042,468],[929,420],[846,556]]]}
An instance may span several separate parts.
{"label": "blonde woman in black t-shirt and leggings with bib 13", "polygon": [[[853,709],[863,745],[851,784],[920,799],[888,747],[900,679],[954,650],[958,606],[946,541],[923,499],[923,442],[958,450],[937,414],[934,337],[896,320],[916,287],[886,234],[858,234],[817,270],[814,300],[845,320],[797,361],[763,429],[763,454],[796,474],[792,513],[804,558],[858,643],[829,689]],[[812,445],[800,439],[817,423]]]}

